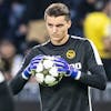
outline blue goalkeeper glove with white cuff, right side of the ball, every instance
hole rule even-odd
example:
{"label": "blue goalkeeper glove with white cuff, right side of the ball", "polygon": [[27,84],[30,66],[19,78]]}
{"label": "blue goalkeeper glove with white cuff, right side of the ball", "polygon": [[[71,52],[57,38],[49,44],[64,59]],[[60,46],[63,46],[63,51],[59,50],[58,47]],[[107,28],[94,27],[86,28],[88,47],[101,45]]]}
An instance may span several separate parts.
{"label": "blue goalkeeper glove with white cuff, right side of the ball", "polygon": [[80,79],[81,71],[77,70],[72,65],[70,65],[64,59],[56,58],[54,60],[56,65],[58,67],[58,71],[60,73],[64,73],[67,77],[72,77],[75,80]]}

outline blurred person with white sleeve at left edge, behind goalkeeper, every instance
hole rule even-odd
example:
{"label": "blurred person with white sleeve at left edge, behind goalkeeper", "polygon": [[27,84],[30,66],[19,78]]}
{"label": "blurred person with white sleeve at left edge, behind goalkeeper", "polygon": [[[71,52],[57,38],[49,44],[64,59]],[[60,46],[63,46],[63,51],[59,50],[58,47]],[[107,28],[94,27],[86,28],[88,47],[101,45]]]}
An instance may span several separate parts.
{"label": "blurred person with white sleeve at left edge, behind goalkeeper", "polygon": [[4,75],[7,80],[10,80],[20,69],[22,56],[17,54],[17,49],[13,41],[2,39],[0,42],[0,57],[2,59]]}

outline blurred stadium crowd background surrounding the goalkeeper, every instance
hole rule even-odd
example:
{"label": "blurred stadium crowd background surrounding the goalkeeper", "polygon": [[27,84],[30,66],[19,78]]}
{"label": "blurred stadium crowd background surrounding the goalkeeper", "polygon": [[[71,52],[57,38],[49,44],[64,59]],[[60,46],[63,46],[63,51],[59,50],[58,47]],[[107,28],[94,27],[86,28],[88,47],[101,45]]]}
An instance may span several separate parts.
{"label": "blurred stadium crowd background surrounding the goalkeeper", "polygon": [[[71,12],[70,34],[91,39],[102,59],[108,85],[91,90],[94,111],[111,111],[111,0],[0,0],[0,69],[10,81],[30,48],[48,40],[43,21],[52,2],[65,3]],[[40,111],[39,88],[33,78],[14,97],[16,111]]]}

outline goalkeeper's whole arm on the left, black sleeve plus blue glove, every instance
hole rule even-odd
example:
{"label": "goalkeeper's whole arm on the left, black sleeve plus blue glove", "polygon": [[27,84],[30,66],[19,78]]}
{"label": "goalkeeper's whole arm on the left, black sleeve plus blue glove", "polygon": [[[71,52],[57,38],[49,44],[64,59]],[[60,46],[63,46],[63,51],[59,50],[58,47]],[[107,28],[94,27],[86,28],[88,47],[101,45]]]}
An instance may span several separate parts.
{"label": "goalkeeper's whole arm on the left, black sleeve plus blue glove", "polygon": [[17,75],[10,82],[10,87],[12,89],[13,94],[18,94],[24,84],[28,82],[32,74],[32,70],[34,70],[43,58],[43,56],[37,52],[38,49],[32,49],[24,58],[22,67]]}

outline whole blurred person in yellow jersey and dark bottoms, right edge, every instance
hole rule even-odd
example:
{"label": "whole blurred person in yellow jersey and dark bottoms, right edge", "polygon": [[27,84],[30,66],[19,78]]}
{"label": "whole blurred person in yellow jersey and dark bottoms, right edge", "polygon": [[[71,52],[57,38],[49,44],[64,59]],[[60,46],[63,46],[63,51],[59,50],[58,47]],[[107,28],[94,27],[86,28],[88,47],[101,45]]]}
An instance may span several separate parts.
{"label": "whole blurred person in yellow jersey and dark bottoms, right edge", "polygon": [[104,2],[101,11],[87,16],[84,37],[94,42],[103,61],[108,81],[111,81],[111,0]]}

